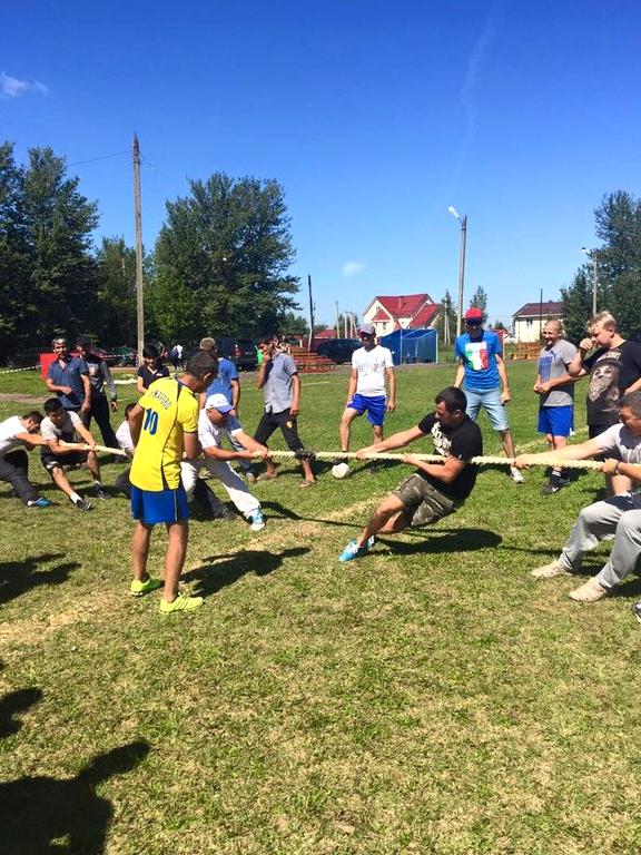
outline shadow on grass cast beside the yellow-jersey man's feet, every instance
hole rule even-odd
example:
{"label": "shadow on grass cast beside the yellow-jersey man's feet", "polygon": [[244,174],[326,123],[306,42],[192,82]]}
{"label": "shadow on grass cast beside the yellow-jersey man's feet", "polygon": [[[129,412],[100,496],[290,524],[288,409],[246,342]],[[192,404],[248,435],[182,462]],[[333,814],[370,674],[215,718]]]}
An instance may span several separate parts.
{"label": "shadow on grass cast beside the yellow-jersey man's feet", "polygon": [[297,558],[309,552],[309,547],[294,547],[283,552],[266,552],[258,549],[245,549],[235,554],[210,556],[204,558],[201,567],[183,574],[185,581],[199,582],[197,593],[209,597],[228,584],[234,584],[245,573],[268,576],[278,570],[286,558]]}

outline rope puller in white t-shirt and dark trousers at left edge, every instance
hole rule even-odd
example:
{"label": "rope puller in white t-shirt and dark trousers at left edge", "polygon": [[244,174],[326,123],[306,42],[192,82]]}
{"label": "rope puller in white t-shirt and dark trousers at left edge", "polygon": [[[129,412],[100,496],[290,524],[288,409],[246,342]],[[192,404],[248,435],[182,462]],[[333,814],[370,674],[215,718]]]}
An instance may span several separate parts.
{"label": "rope puller in white t-shirt and dark trousers at left edge", "polygon": [[29,458],[24,446],[46,445],[39,435],[42,415],[32,410],[24,415],[12,415],[0,422],[0,481],[7,481],[13,493],[27,508],[49,508],[51,502],[29,481]]}

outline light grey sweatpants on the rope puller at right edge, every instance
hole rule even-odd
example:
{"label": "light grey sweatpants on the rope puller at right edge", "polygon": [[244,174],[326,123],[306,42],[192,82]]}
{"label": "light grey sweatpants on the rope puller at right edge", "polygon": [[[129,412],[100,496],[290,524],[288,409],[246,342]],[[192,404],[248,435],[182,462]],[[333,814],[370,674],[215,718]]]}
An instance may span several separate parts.
{"label": "light grey sweatpants on the rope puller at right edge", "polygon": [[596,579],[603,588],[614,588],[634,570],[641,553],[641,493],[613,495],[583,508],[560,561],[569,570],[579,570],[583,553],[594,549],[608,534],[614,534],[614,546]]}

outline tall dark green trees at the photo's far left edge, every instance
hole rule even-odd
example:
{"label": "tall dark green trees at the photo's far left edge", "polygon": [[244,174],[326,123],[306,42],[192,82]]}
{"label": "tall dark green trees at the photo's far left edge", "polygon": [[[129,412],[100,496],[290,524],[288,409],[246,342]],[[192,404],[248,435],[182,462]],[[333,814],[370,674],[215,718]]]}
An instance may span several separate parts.
{"label": "tall dark green trees at the photo's far left edge", "polygon": [[18,166],[0,147],[0,355],[70,335],[96,318],[91,232],[96,205],[67,176],[65,159],[32,148]]}

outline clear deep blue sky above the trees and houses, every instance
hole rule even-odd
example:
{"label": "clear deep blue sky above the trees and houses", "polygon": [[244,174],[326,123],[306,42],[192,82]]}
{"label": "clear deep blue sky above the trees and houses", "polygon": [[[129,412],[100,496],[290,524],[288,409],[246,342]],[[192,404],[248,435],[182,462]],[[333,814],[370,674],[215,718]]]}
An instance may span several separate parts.
{"label": "clear deep blue sky above the trees and houses", "polygon": [[481,285],[507,323],[571,282],[603,194],[640,194],[640,37],[637,0],[23,0],[2,10],[0,139],[65,155],[98,235],[134,243],[137,131],[148,247],[188,178],[276,178],[318,322],[455,296],[454,205],[465,303]]}

